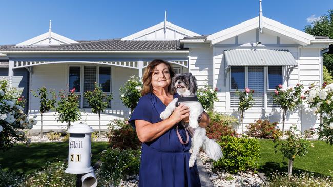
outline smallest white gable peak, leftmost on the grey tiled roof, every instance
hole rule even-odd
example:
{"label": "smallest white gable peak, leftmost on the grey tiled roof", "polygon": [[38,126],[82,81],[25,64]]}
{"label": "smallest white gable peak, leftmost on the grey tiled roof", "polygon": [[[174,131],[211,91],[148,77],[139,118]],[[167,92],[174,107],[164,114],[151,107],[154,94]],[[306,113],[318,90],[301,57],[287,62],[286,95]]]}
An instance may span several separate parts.
{"label": "smallest white gable peak, leftmost on the grey tiled roof", "polygon": [[[28,39],[24,42],[16,44],[16,46],[30,46],[30,45],[49,45],[49,44],[40,44],[44,40],[49,39],[49,32],[46,32],[44,34],[41,34],[39,36],[36,36],[34,38]],[[51,44],[57,43],[57,44],[70,44],[70,43],[78,43],[77,41],[74,41],[70,38],[67,38],[65,36],[61,36],[57,33],[51,32]]]}

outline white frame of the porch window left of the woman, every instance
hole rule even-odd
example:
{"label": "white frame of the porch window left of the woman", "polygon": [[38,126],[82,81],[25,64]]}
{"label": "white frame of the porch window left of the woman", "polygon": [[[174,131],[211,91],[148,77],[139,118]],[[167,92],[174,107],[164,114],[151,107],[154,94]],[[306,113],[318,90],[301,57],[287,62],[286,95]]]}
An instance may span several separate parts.
{"label": "white frame of the porch window left of the woman", "polygon": [[[111,94],[112,93],[112,66],[109,65],[95,65],[95,64],[85,64],[85,65],[75,65],[71,64],[68,65],[68,71],[67,71],[67,84],[69,85],[69,71],[70,67],[80,67],[80,91],[75,92],[75,94],[80,95],[80,109],[90,109],[89,107],[83,107],[84,103],[84,68],[85,66],[96,66],[96,83],[99,85],[99,67],[110,67],[110,92],[104,92],[106,94]],[[111,103],[110,103],[110,108],[111,109]]]}

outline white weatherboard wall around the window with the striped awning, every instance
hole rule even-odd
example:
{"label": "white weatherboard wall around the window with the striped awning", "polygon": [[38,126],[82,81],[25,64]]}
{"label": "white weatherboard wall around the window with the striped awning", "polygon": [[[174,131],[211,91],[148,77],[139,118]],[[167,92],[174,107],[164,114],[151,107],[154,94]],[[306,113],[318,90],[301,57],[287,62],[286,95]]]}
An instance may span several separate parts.
{"label": "white weatherboard wall around the window with the striped awning", "polygon": [[[214,103],[215,111],[231,114],[239,119],[237,108],[230,107],[230,72],[226,76],[226,85],[224,86],[225,78],[225,59],[224,50],[230,49],[253,49],[252,43],[256,42],[255,30],[243,33],[239,36],[230,38],[212,47],[203,46],[202,48],[190,47],[190,72],[197,77],[198,85],[203,86],[209,83],[214,88],[218,88],[219,101]],[[298,66],[290,73],[287,80],[287,71],[283,71],[283,87],[295,86],[297,83],[304,84],[305,89],[308,89],[310,82],[321,83],[321,62],[320,52],[318,48],[301,48],[295,42],[291,42],[286,38],[274,36],[274,33],[261,34],[260,41],[262,44],[271,44],[264,49],[281,49],[289,50]],[[213,56],[213,59],[210,57]],[[209,65],[213,64],[213,65]],[[266,79],[266,76],[264,76]],[[265,91],[267,92],[267,91]],[[267,100],[267,98],[266,98]],[[307,107],[287,114],[285,129],[289,129],[290,125],[298,124],[301,130],[309,129],[310,127],[318,126],[316,116],[307,112]],[[252,108],[244,114],[244,129],[249,123],[253,123],[259,118],[269,119],[271,122],[279,122],[282,128],[282,111],[277,108]],[[303,124],[301,126],[301,123]],[[238,127],[238,130],[241,126]]]}

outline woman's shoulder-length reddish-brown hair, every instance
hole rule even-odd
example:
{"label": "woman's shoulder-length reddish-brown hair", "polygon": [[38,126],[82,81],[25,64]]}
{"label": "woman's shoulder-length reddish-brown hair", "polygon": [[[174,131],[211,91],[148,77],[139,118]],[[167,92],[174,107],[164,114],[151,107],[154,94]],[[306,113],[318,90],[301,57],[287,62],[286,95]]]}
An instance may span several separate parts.
{"label": "woman's shoulder-length reddish-brown hair", "polygon": [[[170,65],[169,62],[166,62],[166,61],[160,60],[160,59],[155,59],[155,60],[151,61],[148,64],[147,68],[145,68],[145,71],[144,71],[144,74],[143,74],[143,79],[142,79],[143,89],[141,91],[142,96],[146,95],[147,93],[152,93],[153,92],[152,74],[153,74],[153,71],[155,70],[156,66],[158,66],[161,63],[165,64],[168,67],[171,79],[175,76],[174,69],[172,68],[172,66]],[[172,93],[171,84],[168,86],[168,92]]]}

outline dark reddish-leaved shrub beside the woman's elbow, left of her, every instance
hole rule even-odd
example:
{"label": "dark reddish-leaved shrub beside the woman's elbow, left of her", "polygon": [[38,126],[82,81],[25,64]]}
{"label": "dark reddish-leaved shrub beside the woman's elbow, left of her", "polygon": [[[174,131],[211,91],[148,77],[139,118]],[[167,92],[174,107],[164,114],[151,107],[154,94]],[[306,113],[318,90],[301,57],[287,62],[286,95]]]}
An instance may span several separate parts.
{"label": "dark reddish-leaved shrub beside the woman's elbow, left of her", "polygon": [[141,147],[135,129],[128,122],[117,119],[108,125],[110,126],[108,139],[111,147],[119,149],[139,149]]}

